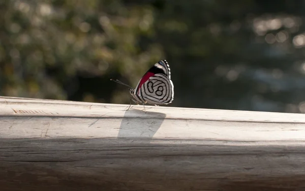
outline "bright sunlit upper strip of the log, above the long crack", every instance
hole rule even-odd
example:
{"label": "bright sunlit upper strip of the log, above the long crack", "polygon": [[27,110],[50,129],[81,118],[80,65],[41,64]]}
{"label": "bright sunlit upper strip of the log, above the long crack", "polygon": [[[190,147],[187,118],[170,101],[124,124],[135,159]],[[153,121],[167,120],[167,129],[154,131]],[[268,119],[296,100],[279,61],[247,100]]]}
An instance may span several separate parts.
{"label": "bright sunlit upper strip of the log, above the long crack", "polygon": [[[261,111],[222,110],[205,108],[184,108],[145,105],[90,103],[65,100],[31,99],[0,97],[0,115],[37,116],[42,113],[32,112],[43,109],[52,116],[103,117],[103,118],[158,118],[158,113],[165,114],[165,119],[245,121],[270,123],[305,123],[305,114]],[[21,110],[21,112],[18,112]],[[22,112],[22,110],[24,112]],[[16,112],[17,111],[17,112]],[[28,111],[28,112],[26,112]],[[45,114],[47,115],[47,114]]]}

